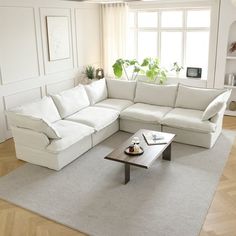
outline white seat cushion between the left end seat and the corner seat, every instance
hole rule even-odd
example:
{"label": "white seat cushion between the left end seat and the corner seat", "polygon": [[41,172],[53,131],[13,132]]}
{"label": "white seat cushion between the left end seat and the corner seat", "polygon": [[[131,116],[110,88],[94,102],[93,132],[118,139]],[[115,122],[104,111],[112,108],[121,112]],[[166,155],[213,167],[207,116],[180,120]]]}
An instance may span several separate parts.
{"label": "white seat cushion between the left end seat and the corner seat", "polygon": [[113,123],[118,117],[119,112],[112,109],[87,107],[66,119],[91,126],[99,131]]}

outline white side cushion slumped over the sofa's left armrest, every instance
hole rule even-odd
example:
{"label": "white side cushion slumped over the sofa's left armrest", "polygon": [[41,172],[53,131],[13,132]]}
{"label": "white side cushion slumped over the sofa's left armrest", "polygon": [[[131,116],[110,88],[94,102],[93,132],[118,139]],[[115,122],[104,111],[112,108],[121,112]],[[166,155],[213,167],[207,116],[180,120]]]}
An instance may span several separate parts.
{"label": "white side cushion slumped over the sofa's left armrest", "polygon": [[44,133],[48,138],[52,139],[61,138],[58,132],[53,128],[52,123],[49,123],[44,119],[22,115],[11,111],[7,113],[7,117],[12,126],[33,130],[38,133]]}

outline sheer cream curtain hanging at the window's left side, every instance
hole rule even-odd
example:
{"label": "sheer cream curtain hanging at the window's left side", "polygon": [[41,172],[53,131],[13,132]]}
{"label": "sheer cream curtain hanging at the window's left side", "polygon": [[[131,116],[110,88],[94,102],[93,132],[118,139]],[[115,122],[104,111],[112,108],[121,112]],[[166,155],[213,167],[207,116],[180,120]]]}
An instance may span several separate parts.
{"label": "sheer cream curtain hanging at the window's left side", "polygon": [[101,5],[103,68],[113,75],[112,65],[126,52],[128,6],[126,3]]}

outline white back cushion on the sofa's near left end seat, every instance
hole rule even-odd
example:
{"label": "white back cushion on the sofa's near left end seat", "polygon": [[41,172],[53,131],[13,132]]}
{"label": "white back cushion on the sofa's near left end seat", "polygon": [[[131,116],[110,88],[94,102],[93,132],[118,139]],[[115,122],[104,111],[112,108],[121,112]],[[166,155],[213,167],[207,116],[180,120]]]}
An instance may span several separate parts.
{"label": "white back cushion on the sofa's near left end seat", "polygon": [[42,118],[47,122],[55,122],[61,119],[51,97],[44,97],[40,101],[18,106],[11,111],[22,115]]}

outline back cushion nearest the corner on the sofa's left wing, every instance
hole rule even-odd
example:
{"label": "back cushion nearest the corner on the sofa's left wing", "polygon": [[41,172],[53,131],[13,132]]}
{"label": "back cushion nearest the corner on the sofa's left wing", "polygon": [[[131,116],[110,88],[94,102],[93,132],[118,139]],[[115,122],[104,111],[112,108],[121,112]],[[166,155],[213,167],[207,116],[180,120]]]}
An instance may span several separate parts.
{"label": "back cushion nearest the corner on the sofa's left wing", "polygon": [[84,87],[91,105],[107,98],[107,85],[105,79],[100,79],[91,84],[85,85]]}

